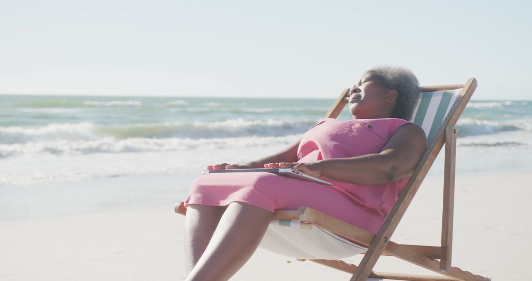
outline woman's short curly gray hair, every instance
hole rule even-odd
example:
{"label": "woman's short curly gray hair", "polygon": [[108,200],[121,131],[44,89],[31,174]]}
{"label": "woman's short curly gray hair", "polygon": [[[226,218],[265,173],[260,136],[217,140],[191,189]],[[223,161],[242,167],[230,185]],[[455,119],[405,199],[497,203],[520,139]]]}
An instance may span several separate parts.
{"label": "woman's short curly gray hair", "polygon": [[414,73],[403,67],[379,66],[370,69],[386,88],[397,90],[393,118],[410,121],[419,96],[419,81]]}

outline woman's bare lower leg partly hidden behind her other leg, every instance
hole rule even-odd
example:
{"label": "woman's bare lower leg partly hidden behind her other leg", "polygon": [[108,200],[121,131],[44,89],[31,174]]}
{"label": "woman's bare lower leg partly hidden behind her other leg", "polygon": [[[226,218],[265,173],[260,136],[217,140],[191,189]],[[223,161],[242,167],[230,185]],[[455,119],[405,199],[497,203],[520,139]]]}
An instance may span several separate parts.
{"label": "woman's bare lower leg partly hidden behind her other leg", "polygon": [[185,270],[192,271],[209,244],[227,206],[190,204],[185,217]]}

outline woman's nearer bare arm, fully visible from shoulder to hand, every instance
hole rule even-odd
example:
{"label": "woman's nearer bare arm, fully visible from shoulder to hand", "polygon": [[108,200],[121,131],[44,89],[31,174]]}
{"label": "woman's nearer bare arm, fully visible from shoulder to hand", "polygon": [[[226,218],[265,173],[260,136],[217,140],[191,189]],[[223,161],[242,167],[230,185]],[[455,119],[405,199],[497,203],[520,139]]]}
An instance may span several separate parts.
{"label": "woman's nearer bare arm, fully visible from shoulder to hand", "polygon": [[427,149],[423,130],[415,125],[397,129],[379,153],[309,163],[276,163],[268,167],[293,167],[315,177],[353,184],[383,184],[410,176]]}

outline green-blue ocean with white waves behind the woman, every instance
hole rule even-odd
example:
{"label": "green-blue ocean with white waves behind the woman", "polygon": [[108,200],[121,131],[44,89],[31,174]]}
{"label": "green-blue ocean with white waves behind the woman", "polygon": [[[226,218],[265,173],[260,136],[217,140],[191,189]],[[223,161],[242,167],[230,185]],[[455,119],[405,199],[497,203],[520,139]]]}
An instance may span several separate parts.
{"label": "green-blue ocean with white waves behind the woman", "polygon": [[[330,99],[0,95],[0,186],[243,163],[294,142]],[[339,119],[350,119],[345,109]],[[529,170],[532,101],[470,101],[457,172]],[[436,160],[443,173],[443,161]],[[439,172],[435,172],[439,173]]]}

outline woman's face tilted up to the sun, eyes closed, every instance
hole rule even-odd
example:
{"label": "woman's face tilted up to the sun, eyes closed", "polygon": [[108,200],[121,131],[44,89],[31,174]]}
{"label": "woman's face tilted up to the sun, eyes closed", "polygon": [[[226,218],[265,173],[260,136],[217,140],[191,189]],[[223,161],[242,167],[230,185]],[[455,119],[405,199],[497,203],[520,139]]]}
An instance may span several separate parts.
{"label": "woman's face tilted up to the sun, eyes closed", "polygon": [[349,94],[349,109],[356,119],[389,118],[390,89],[382,84],[374,72],[362,73]]}

